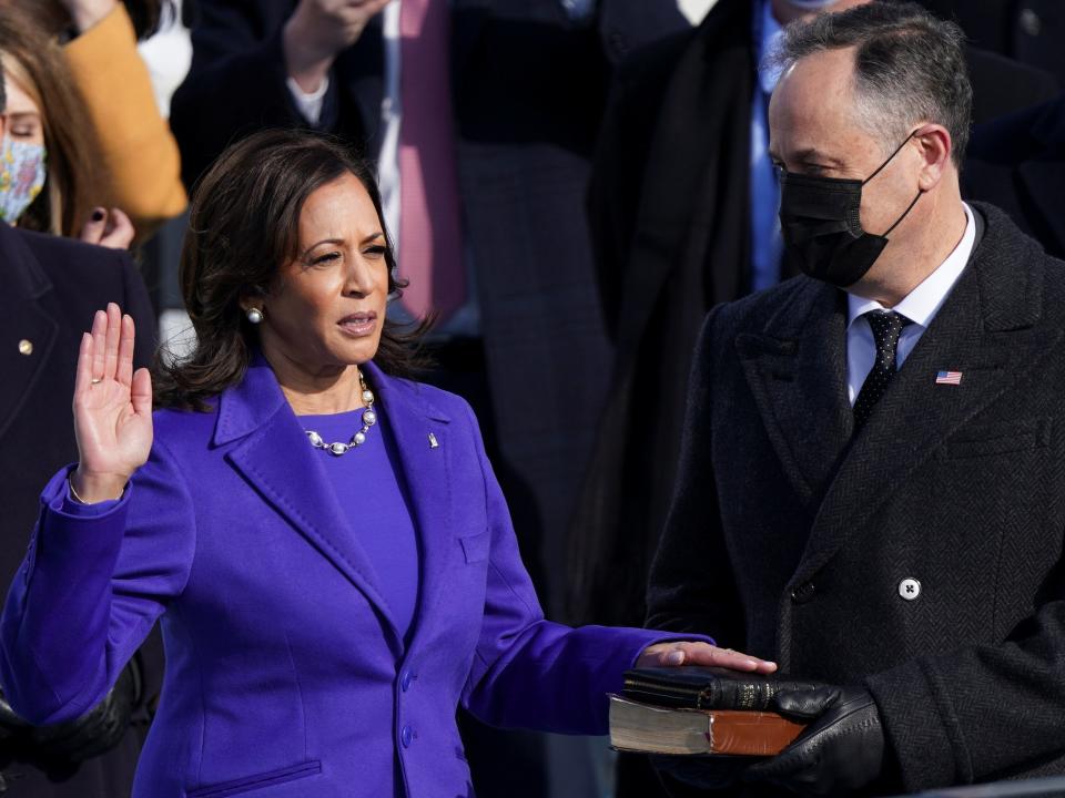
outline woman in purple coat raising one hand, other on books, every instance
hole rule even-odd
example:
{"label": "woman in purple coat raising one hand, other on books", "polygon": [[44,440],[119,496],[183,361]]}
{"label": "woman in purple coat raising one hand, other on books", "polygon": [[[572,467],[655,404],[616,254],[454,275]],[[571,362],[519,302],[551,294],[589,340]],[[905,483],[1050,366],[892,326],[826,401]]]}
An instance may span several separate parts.
{"label": "woman in purple coat raising one hand, other on books", "polygon": [[467,796],[459,704],[602,734],[635,663],[772,668],[544,618],[468,406],[405,378],[393,275],[365,165],[258,134],[193,205],[193,354],[134,374],[114,305],[82,340],[80,460],[42,495],[0,679],[31,722],[75,717],[161,617],[136,796]]}

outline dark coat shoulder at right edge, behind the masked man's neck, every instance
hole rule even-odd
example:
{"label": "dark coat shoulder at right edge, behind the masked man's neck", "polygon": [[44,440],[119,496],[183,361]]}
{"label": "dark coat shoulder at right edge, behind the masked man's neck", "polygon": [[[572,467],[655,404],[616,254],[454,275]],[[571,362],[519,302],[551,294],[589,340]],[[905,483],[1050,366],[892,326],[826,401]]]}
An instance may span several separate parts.
{"label": "dark coat shoulder at right edge, behind the masked man's neck", "polygon": [[962,194],[997,205],[1051,255],[1065,258],[1065,95],[977,126]]}

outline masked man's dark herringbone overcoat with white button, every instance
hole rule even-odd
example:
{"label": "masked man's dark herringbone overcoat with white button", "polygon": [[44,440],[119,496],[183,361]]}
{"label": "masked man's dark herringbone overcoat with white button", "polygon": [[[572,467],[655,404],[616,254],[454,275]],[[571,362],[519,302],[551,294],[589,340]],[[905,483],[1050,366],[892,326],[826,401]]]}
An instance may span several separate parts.
{"label": "masked man's dark herringbone overcoat with white button", "polygon": [[709,316],[648,593],[652,626],[865,685],[906,791],[1065,773],[1065,263],[974,209],[853,440],[841,291],[797,277]]}

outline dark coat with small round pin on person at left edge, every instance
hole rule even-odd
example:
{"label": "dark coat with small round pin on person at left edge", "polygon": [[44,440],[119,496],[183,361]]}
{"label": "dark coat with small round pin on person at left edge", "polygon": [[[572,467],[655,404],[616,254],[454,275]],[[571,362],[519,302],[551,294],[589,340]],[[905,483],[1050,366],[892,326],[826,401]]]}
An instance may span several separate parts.
{"label": "dark coat with small round pin on person at left edge", "polygon": [[[136,324],[138,366],[154,351],[155,316],[126,253],[0,223],[0,579],[11,583],[40,510],[41,489],[60,468],[77,462],[71,399],[81,335],[93,314],[118,303]],[[28,354],[23,354],[28,352]],[[150,640],[138,655],[144,696],[162,683],[162,652]],[[118,747],[83,763],[53,784],[12,761],[0,744],[0,771],[12,795],[26,798],[128,796],[146,732],[131,727]]]}

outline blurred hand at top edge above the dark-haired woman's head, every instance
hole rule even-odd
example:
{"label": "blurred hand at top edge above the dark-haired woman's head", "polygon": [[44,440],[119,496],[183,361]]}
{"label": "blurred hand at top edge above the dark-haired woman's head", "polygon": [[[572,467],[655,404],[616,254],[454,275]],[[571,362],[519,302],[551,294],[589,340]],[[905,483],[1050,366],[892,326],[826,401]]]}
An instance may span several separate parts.
{"label": "blurred hand at top edge above the dark-haired woman's head", "polygon": [[300,0],[285,23],[282,44],[288,76],[308,94],[317,91],[337,54],[362,35],[390,0]]}

